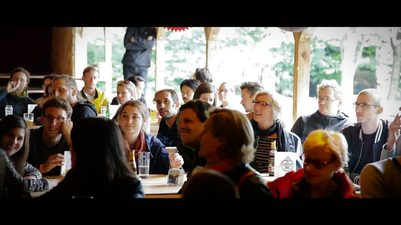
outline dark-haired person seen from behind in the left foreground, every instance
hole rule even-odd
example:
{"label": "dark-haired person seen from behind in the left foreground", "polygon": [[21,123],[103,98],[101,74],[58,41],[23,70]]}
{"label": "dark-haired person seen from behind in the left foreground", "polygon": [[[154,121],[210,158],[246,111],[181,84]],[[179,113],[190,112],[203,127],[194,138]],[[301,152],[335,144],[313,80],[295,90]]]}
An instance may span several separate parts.
{"label": "dark-haired person seen from behind in the left foreground", "polygon": [[[82,141],[82,137],[92,141]],[[84,118],[71,130],[71,169],[40,198],[144,198],[113,120]]]}

